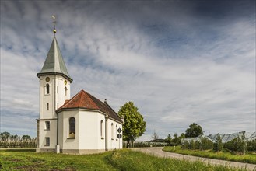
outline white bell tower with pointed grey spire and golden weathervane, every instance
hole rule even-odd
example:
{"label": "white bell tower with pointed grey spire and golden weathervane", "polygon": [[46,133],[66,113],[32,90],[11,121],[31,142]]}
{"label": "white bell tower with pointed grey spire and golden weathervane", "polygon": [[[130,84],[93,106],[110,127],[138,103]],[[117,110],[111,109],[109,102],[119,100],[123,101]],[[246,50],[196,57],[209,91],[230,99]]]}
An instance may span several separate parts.
{"label": "white bell tower with pointed grey spire and golden weathervane", "polygon": [[[54,17],[54,16],[52,16]],[[53,18],[55,19],[55,17]],[[54,21],[56,23],[56,21]],[[37,119],[37,152],[54,151],[57,142],[58,116],[55,113],[65,100],[70,99],[71,77],[62,58],[58,41],[51,43],[43,68],[37,77],[40,79],[40,115]]]}

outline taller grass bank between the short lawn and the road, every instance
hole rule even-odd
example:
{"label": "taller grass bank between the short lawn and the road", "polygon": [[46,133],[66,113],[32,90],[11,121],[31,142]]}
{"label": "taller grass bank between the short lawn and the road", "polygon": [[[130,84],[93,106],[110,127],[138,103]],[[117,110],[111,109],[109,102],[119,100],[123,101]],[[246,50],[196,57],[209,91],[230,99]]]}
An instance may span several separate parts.
{"label": "taller grass bank between the short lawn and the road", "polygon": [[107,159],[119,170],[245,170],[232,169],[229,166],[212,166],[204,162],[159,158],[125,149],[111,152]]}

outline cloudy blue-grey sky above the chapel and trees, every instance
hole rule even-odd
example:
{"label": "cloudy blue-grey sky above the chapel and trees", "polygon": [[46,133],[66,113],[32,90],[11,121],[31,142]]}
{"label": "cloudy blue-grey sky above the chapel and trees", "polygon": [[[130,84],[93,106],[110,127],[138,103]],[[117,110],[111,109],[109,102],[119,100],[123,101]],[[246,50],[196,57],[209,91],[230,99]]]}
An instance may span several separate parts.
{"label": "cloudy blue-grey sky above the chapel and trees", "polygon": [[147,123],[140,138],[255,131],[254,1],[1,1],[2,131],[36,136],[53,39],[74,82]]}

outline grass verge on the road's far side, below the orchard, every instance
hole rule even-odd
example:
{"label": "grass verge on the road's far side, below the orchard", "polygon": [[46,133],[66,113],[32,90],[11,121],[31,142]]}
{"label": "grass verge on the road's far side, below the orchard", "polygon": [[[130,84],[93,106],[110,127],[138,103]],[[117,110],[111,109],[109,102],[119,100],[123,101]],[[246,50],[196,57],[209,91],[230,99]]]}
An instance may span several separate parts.
{"label": "grass verge on the road's far side, below the orchard", "polygon": [[234,162],[245,162],[256,164],[256,155],[253,153],[248,153],[247,155],[235,155],[231,152],[212,152],[209,151],[198,151],[198,150],[188,150],[188,149],[181,149],[181,146],[177,147],[164,147],[163,151],[165,152],[175,152],[183,155],[194,155],[198,157],[205,157],[210,159],[222,159]]}

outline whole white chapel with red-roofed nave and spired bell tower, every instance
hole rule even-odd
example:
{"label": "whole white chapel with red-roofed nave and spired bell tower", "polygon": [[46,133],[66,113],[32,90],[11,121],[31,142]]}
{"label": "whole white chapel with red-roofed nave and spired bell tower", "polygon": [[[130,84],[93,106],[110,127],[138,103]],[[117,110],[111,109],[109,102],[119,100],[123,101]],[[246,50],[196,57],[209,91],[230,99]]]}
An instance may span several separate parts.
{"label": "whole white chapel with red-roofed nave and spired bell tower", "polygon": [[[84,90],[70,98],[72,78],[58,42],[52,40],[40,79],[37,152],[91,154],[122,148],[123,120],[109,106]],[[118,138],[117,138],[117,134]]]}

